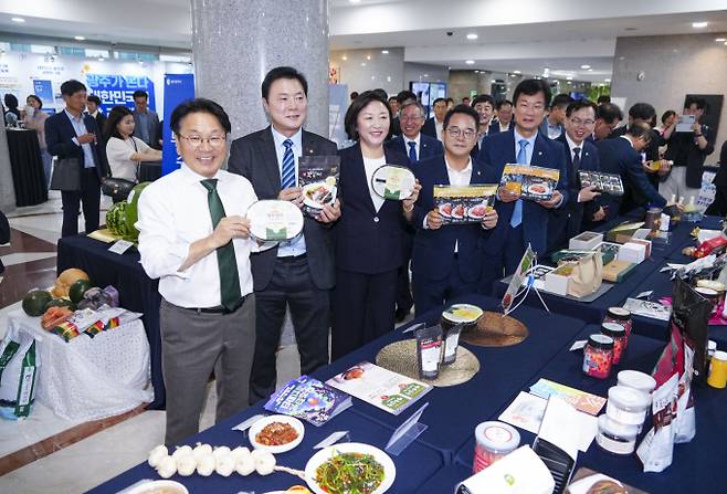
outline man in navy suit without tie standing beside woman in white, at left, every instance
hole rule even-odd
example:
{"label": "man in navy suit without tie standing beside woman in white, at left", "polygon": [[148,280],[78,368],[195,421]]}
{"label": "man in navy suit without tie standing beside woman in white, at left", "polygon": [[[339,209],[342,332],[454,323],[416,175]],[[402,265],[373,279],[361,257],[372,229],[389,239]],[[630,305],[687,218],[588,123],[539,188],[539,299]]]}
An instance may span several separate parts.
{"label": "man in navy suit without tie standing beside woman in white, at left", "polygon": [[61,84],[61,95],[65,108],[45,120],[45,141],[52,156],[59,159],[76,158],[82,168],[80,190],[61,191],[61,237],[69,237],[78,233],[78,210],[82,202],[86,233],[98,230],[101,182],[108,174],[96,149],[96,136],[99,134],[96,119],[83,114],[86,108],[86,86],[75,80],[66,81]]}

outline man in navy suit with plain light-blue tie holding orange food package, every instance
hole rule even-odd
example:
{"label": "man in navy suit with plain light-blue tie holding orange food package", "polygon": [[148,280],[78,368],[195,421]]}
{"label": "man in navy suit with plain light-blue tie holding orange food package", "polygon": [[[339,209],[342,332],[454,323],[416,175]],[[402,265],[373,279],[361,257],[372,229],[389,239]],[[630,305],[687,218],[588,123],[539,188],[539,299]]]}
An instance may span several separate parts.
{"label": "man in navy suit with plain light-blue tie holding orange food package", "polygon": [[515,127],[487,137],[477,156],[485,170],[485,182],[499,182],[506,164],[555,168],[560,178],[552,198],[547,201],[523,200],[518,193],[501,186],[496,204],[499,221],[488,232],[484,244],[483,293],[492,291],[495,280],[515,272],[528,244],[538,255],[546,253],[549,212],[568,202],[563,146],[538,132],[550,101],[550,88],[542,80],[524,80],[515,88],[513,99]]}

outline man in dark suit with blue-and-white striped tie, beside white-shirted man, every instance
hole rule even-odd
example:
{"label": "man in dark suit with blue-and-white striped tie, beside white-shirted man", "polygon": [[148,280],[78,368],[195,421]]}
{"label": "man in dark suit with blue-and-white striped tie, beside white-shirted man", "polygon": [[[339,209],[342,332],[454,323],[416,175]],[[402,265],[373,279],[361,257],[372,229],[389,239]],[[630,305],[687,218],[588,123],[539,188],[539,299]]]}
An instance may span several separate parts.
{"label": "man in dark suit with blue-and-white striped tie, beside white-shirted man", "polygon": [[[271,125],[232,143],[228,170],[247,178],[260,199],[281,199],[302,207],[298,158],[336,156],[334,143],[303,130],[307,93],[308,83],[297,70],[273,69],[262,83],[262,103]],[[329,299],[336,278],[330,225],[339,217],[337,200],[318,218],[306,216],[297,238],[252,256],[256,341],[251,404],[275,391],[276,354],[286,308],[295,329],[301,374],[328,364]]]}

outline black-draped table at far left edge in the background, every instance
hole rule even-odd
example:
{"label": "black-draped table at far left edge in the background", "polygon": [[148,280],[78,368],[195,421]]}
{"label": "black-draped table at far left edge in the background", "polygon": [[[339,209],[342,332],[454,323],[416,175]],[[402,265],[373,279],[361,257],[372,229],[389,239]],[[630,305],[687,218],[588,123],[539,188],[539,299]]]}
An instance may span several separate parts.
{"label": "black-draped table at far left edge in the background", "polygon": [[35,206],[48,201],[48,185],[35,130],[8,129],[8,151],[15,204]]}

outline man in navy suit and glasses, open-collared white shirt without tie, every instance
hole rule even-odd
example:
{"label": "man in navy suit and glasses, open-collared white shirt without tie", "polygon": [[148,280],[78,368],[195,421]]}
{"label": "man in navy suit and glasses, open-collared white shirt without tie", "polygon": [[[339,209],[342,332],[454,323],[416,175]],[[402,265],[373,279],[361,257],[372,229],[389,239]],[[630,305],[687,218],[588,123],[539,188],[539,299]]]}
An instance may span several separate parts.
{"label": "man in navy suit and glasses, open-collared white shirt without tie", "polygon": [[413,167],[422,186],[412,218],[417,229],[412,277],[418,316],[475,292],[480,283],[483,229],[497,224],[497,212],[485,213],[480,223],[443,225],[433,198],[435,185],[484,183],[484,172],[470,156],[477,139],[478,120],[480,115],[472,107],[455,106],[444,117],[444,155]]}

